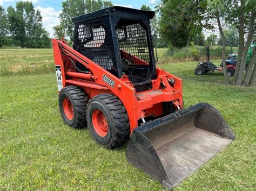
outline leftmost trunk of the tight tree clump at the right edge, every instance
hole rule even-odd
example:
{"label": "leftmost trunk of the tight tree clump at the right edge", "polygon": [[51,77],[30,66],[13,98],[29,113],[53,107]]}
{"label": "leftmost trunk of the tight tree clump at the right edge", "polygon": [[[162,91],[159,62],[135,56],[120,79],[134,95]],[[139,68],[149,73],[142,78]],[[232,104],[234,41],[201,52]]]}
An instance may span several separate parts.
{"label": "leftmost trunk of the tight tree clump at the right edge", "polygon": [[239,45],[238,45],[238,55],[237,55],[237,68],[234,73],[234,84],[237,83],[238,74],[240,71],[240,65],[241,65],[241,59],[242,59],[242,51],[244,50],[244,44],[245,44],[245,31],[244,31],[244,25],[245,25],[245,10],[244,10],[244,4],[245,1],[241,0],[241,13],[239,16]]}

